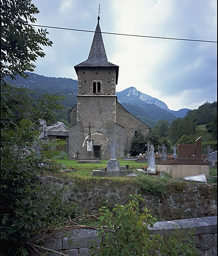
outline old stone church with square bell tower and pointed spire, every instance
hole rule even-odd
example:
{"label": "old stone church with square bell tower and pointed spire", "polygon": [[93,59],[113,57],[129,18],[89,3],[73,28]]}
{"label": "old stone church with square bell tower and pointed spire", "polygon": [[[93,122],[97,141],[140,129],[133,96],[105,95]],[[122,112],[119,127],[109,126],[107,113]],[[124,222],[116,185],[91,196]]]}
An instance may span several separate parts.
{"label": "old stone church with square bell tower and pointed spire", "polygon": [[[150,127],[117,102],[119,67],[107,60],[99,15],[88,59],[74,69],[78,92],[77,104],[69,111],[69,159],[74,159],[75,155],[77,159],[88,156],[110,159],[108,145],[112,141],[117,144],[116,158],[123,158],[124,150],[130,150],[133,136],[138,131],[146,135]],[[91,149],[88,149],[90,145]]]}

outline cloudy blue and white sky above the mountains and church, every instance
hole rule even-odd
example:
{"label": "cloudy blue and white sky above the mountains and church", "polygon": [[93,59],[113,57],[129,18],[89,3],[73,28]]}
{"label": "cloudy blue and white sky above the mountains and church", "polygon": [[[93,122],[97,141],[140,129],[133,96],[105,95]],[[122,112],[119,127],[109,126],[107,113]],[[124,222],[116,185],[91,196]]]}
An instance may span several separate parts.
{"label": "cloudy blue and white sky above the mountains and church", "polygon": [[[217,41],[216,0],[33,0],[37,25],[102,32]],[[35,27],[36,28],[36,27]],[[77,79],[94,33],[50,29],[52,47],[35,73]],[[119,66],[116,91],[135,87],[177,111],[217,100],[217,43],[102,34],[108,61]]]}

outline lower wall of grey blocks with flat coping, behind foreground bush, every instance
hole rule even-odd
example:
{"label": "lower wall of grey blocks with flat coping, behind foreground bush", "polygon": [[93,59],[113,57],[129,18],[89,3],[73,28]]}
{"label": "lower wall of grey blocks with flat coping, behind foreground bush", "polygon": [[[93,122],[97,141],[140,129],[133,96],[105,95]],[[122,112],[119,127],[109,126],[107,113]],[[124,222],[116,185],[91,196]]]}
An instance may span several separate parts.
{"label": "lower wall of grey blocks with flat coping, behind foreground bush", "polygon": [[[170,233],[176,229],[191,231],[192,228],[195,229],[194,245],[199,250],[199,255],[217,255],[217,216],[156,222],[153,227],[149,227],[150,235],[154,233],[163,235],[164,232]],[[49,237],[45,248],[71,256],[88,256],[90,255],[90,246],[99,246],[100,242],[96,230],[75,228]],[[49,255],[58,256],[60,254],[51,252]]]}

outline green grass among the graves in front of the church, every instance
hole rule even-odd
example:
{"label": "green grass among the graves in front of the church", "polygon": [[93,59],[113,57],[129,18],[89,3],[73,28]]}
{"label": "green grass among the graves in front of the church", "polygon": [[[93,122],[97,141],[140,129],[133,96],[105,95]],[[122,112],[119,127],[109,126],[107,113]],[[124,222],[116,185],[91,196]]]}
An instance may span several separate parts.
{"label": "green grass among the graves in front of the church", "polygon": [[[159,193],[161,190],[161,184],[163,189],[168,181],[173,181],[170,175],[167,173],[162,173],[162,175],[144,175],[143,173],[138,173],[138,178],[126,178],[126,177],[113,177],[113,178],[102,178],[93,177],[93,170],[98,170],[99,168],[104,169],[107,166],[108,160],[101,160],[101,163],[77,163],[76,160],[68,160],[68,156],[64,156],[63,159],[55,158],[58,163],[62,164],[63,169],[74,169],[76,171],[72,172],[57,172],[56,177],[73,179],[78,187],[78,190],[87,190],[93,186],[103,185],[105,187],[116,187],[116,186],[137,186],[141,190],[146,190],[148,185],[151,187],[152,193]],[[138,168],[144,168],[147,166],[147,162],[140,163],[137,161],[128,161],[123,159],[117,159],[120,162],[120,166],[129,166],[130,170],[135,170]],[[216,176],[217,169],[210,168],[210,176]],[[152,182],[154,183],[152,185]],[[182,180],[175,180],[175,182],[182,182]],[[210,179],[209,179],[210,182]],[[146,187],[144,187],[144,185]]]}

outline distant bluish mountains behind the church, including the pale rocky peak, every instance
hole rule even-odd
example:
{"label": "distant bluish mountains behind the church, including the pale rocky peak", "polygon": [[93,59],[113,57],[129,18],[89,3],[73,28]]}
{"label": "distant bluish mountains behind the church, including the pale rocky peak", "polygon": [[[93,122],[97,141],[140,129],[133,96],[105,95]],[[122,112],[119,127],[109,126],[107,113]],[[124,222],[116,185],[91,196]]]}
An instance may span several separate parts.
{"label": "distant bluish mountains behind the church, including the pale rocky peak", "polygon": [[[34,91],[33,98],[42,98],[43,94],[57,94],[65,96],[61,104],[65,106],[63,111],[58,111],[59,121],[69,125],[70,116],[68,111],[76,104],[77,80],[71,78],[55,78],[37,75],[27,72],[28,78],[20,76],[16,80],[5,78],[9,84],[23,86]],[[124,108],[142,122],[150,127],[154,127],[160,119],[172,122],[178,115],[184,117],[187,108],[180,111],[171,111],[167,105],[157,98],[139,92],[135,87],[130,87],[122,92],[117,92],[117,100]]]}

